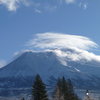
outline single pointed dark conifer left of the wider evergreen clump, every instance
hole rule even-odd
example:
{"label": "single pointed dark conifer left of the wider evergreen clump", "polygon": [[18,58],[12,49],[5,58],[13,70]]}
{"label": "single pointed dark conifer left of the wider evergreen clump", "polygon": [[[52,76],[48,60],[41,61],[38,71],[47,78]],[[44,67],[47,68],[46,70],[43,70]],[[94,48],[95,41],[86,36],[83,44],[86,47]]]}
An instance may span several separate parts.
{"label": "single pointed dark conifer left of the wider evergreen clump", "polygon": [[32,87],[32,96],[34,100],[48,100],[45,84],[39,75],[35,77]]}

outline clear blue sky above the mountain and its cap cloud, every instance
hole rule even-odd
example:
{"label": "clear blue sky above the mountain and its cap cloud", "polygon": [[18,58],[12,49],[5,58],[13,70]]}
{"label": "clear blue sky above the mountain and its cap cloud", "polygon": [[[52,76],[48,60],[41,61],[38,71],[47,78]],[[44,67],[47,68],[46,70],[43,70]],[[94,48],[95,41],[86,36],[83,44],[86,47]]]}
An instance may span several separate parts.
{"label": "clear blue sky above the mountain and its cap cloud", "polygon": [[[15,52],[27,49],[25,44],[33,34],[44,32],[82,35],[100,45],[100,1],[0,1],[1,62],[11,60]],[[100,54],[99,48],[93,52]]]}

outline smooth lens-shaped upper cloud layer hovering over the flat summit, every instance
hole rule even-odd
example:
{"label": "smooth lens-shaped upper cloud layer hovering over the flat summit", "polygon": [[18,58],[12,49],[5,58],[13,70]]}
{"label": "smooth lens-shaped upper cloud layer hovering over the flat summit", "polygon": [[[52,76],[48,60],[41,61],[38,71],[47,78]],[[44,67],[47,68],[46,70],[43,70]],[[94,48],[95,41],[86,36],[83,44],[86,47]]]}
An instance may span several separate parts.
{"label": "smooth lens-shaped upper cloud layer hovering over the flat summit", "polygon": [[84,36],[61,33],[43,33],[37,34],[32,40],[30,40],[28,46],[40,49],[74,48],[88,50],[92,47],[97,47],[97,44]]}

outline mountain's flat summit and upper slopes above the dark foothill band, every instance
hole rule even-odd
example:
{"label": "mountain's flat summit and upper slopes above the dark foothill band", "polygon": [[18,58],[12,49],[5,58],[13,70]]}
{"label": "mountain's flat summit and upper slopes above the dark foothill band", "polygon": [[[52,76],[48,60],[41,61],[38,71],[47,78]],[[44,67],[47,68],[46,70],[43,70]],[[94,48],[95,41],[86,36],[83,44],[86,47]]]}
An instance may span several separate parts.
{"label": "mountain's flat summit and upper slopes above the dark foothill band", "polygon": [[[67,52],[67,53],[66,53]],[[68,52],[59,49],[48,51],[25,51],[17,59],[0,69],[0,78],[26,78],[40,74],[44,81],[49,77],[65,76],[75,80],[98,80],[100,67],[80,63],[68,58]]]}

